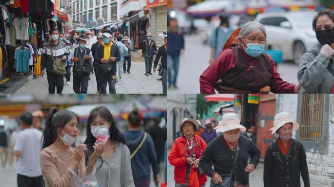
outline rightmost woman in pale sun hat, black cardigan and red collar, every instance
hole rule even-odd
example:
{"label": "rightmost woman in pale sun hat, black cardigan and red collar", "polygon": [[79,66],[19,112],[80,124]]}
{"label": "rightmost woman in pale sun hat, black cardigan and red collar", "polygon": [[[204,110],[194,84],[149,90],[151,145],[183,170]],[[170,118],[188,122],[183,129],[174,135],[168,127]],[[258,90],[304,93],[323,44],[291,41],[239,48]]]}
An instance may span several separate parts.
{"label": "rightmost woman in pale sun hat, black cardigan and red collar", "polygon": [[265,187],[300,187],[300,175],[304,187],[310,187],[309,170],[303,145],[292,138],[292,130],[299,125],[289,112],[274,116],[270,129],[278,138],[269,145],[264,158],[263,181]]}

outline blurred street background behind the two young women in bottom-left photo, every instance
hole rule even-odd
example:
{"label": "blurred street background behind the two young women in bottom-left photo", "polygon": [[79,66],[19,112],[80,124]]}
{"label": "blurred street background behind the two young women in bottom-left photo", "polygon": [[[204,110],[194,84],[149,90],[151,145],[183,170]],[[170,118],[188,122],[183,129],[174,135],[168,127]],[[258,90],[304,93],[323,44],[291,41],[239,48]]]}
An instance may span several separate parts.
{"label": "blurred street background behind the two young women in bottom-left photo", "polygon": [[[74,146],[84,143],[86,139],[86,122],[89,112],[97,107],[105,106],[116,120],[118,129],[127,130],[127,116],[134,108],[137,108],[143,117],[144,125],[141,129],[148,132],[154,143],[160,176],[164,179],[164,151],[167,140],[167,96],[159,94],[5,94],[0,96],[0,126],[4,127],[7,135],[8,149],[13,149],[15,137],[21,131],[19,116],[22,112],[36,112],[41,120],[41,125],[33,127],[43,131],[45,119],[51,108],[67,109],[76,112],[80,116],[79,130]],[[35,125],[35,126],[34,126]],[[12,146],[12,147],[11,147]],[[9,151],[8,151],[9,152]],[[5,168],[0,168],[0,186],[16,187],[16,158],[6,157]],[[4,159],[5,157],[1,157]],[[154,187],[154,182],[151,182]]]}

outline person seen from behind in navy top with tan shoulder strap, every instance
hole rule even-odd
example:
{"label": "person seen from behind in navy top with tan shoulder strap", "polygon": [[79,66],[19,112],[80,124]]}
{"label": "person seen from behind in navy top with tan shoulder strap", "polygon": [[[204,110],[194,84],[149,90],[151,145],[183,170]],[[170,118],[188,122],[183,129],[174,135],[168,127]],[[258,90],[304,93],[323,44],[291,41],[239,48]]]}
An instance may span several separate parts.
{"label": "person seen from behind in navy top with tan shoulder strap", "polygon": [[149,187],[152,167],[153,180],[157,186],[160,182],[157,155],[152,137],[140,130],[141,125],[142,118],[138,111],[130,112],[127,118],[128,130],[124,132],[124,137],[130,150],[133,182],[135,187]]}

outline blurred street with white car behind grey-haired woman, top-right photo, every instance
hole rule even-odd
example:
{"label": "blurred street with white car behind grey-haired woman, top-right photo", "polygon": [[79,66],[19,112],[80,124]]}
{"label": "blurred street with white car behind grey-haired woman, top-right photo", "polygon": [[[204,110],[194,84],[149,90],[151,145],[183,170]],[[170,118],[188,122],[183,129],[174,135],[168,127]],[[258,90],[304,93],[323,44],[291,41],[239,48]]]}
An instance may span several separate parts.
{"label": "blurred street with white car behind grey-haired woman, top-right photo", "polygon": [[[298,83],[300,57],[317,42],[313,17],[324,7],[334,9],[334,0],[168,0],[167,19],[177,19],[185,39],[177,87],[169,88],[168,93],[200,93],[199,76],[209,66],[209,40],[217,38],[222,15],[228,17],[231,30],[248,21],[262,23],[267,32],[266,53],[278,73],[283,80]],[[167,26],[170,28],[169,21]]]}

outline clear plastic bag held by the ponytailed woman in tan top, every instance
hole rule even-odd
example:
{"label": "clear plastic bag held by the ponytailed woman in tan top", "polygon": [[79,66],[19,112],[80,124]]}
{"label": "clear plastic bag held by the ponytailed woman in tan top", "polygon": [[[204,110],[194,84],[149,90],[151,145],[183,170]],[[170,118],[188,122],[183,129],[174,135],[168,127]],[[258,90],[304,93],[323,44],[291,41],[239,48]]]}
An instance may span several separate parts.
{"label": "clear plastic bag held by the ponytailed woman in tan top", "polygon": [[71,171],[73,174],[73,182],[71,187],[99,187],[95,177],[95,167],[93,168],[92,173],[83,178],[80,178],[73,170]]}

